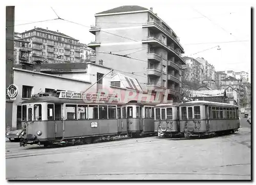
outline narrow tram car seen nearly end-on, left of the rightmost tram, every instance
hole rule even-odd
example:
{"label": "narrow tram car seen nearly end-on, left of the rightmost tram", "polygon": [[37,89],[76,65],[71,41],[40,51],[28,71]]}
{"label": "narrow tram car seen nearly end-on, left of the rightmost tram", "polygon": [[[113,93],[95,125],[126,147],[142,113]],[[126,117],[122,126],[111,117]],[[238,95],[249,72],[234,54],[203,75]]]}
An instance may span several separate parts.
{"label": "narrow tram car seen nearly end-on, left of the rightmost tram", "polygon": [[179,105],[180,103],[164,103],[154,107],[154,126],[158,136],[180,136]]}

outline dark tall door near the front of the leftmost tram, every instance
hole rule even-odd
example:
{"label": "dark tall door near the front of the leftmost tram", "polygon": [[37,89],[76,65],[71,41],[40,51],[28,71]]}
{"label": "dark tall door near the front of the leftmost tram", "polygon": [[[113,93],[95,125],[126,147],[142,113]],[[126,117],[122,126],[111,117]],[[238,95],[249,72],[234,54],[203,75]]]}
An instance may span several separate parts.
{"label": "dark tall door near the front of the leftmost tram", "polygon": [[54,104],[55,137],[62,137],[63,121],[61,119],[61,104]]}

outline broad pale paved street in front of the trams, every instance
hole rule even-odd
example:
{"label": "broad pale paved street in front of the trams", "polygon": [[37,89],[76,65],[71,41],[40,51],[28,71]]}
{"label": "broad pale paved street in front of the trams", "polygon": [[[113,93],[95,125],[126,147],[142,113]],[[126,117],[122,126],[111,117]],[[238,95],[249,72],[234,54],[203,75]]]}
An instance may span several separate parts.
{"label": "broad pale paved street in front of the trams", "polygon": [[21,179],[251,179],[251,128],[206,139],[120,138],[71,147],[6,143],[6,178]]}

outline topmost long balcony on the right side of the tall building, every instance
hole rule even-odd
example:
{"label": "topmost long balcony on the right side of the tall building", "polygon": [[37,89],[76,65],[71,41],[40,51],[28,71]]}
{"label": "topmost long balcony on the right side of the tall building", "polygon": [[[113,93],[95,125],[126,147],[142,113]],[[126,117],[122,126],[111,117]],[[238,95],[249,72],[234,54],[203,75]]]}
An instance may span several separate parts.
{"label": "topmost long balcony on the right side of the tall building", "polygon": [[157,31],[161,31],[171,38],[181,49],[184,50],[182,45],[180,44],[180,39],[178,37],[173,36],[173,30],[166,30],[161,26],[161,21],[148,21],[142,25],[142,28],[152,28]]}

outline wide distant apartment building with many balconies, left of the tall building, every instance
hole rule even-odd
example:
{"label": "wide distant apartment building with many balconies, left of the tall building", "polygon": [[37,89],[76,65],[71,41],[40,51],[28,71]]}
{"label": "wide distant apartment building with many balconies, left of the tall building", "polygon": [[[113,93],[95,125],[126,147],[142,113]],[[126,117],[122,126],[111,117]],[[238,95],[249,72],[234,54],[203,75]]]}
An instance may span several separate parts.
{"label": "wide distant apartment building with many balconies, left of the tall building", "polygon": [[59,31],[34,28],[22,33],[22,39],[32,43],[32,61],[80,62],[81,49],[78,40]]}

